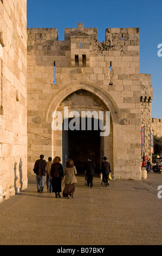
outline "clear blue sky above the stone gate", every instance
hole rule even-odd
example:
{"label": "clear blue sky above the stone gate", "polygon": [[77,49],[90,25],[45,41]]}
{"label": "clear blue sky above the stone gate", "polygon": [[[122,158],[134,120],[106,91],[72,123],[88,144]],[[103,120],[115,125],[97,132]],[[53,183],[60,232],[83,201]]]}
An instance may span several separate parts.
{"label": "clear blue sky above the stone gate", "polygon": [[162,1],[27,0],[28,28],[57,28],[62,41],[64,28],[77,28],[77,23],[98,28],[100,42],[106,28],[139,28],[140,73],[151,74],[152,118],[162,119]]}

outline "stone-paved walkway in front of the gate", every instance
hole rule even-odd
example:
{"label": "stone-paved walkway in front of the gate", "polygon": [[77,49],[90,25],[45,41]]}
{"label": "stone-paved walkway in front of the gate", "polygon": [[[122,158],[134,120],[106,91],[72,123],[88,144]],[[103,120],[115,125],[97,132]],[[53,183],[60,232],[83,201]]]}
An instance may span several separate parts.
{"label": "stone-paved walkway in front of the gate", "polygon": [[162,245],[162,175],[109,187],[94,178],[92,189],[77,180],[74,198],[54,198],[29,175],[28,188],[0,204],[0,245]]}

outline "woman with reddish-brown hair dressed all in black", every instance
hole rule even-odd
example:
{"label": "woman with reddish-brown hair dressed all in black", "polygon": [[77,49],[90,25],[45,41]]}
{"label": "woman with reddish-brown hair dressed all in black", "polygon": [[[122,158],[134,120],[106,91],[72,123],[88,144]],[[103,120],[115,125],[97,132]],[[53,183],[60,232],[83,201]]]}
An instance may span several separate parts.
{"label": "woman with reddish-brown hair dressed all in black", "polygon": [[53,164],[51,165],[50,176],[51,176],[51,184],[53,188],[53,193],[55,193],[55,197],[61,197],[61,181],[63,180],[63,168],[60,163],[61,159],[59,156],[56,156],[53,160]]}

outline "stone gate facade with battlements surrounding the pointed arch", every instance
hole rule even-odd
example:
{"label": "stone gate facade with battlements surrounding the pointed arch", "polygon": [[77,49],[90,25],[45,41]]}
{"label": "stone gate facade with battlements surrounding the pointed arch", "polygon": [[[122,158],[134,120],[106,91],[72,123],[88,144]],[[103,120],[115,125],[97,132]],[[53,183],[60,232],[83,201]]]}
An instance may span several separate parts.
{"label": "stone gate facade with battlements surrounding the pointed arch", "polygon": [[[64,41],[57,34],[56,28],[28,29],[29,172],[42,153],[46,160],[62,158],[62,134],[52,131],[51,114],[70,94],[86,90],[111,112],[111,143],[104,137],[103,151],[115,178],[140,179],[141,99],[150,96],[141,86],[150,84],[139,73],[139,29],[107,28],[103,43],[97,28],[82,23],[65,28]],[[70,107],[81,110],[77,100]],[[89,104],[82,107],[89,109]]]}

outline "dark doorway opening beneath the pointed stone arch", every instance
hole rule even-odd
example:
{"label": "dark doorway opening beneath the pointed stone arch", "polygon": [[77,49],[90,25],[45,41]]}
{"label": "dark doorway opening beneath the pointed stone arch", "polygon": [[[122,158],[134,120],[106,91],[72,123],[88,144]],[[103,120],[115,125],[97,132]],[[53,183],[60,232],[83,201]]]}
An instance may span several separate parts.
{"label": "dark doorway opening beneath the pointed stone arch", "polygon": [[[68,119],[68,123],[72,118]],[[100,173],[100,164],[103,157],[103,137],[100,136],[100,129],[95,130],[95,121],[92,118],[92,129],[89,130],[88,118],[86,118],[85,130],[81,129],[81,118],[80,118],[80,129],[79,130],[64,130],[62,129],[62,160],[63,163],[68,158],[72,158],[76,166],[77,173],[80,175],[85,174],[85,164],[88,161],[88,157],[92,157],[92,161],[95,162],[95,174]],[[64,125],[64,124],[63,124]],[[64,127],[64,126],[63,126]]]}

